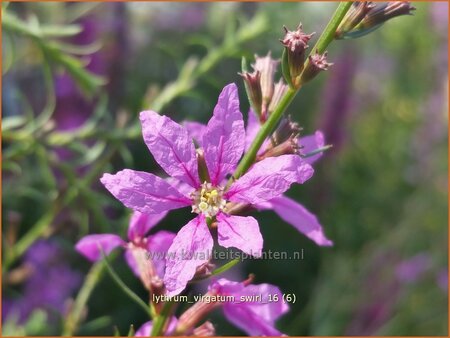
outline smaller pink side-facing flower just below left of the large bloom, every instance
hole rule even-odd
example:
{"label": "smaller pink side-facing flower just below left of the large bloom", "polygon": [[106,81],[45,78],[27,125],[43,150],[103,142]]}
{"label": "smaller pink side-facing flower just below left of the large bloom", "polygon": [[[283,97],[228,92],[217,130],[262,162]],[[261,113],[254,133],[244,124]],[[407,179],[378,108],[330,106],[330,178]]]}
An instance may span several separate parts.
{"label": "smaller pink side-facing flower just below left of the large bloom", "polygon": [[[94,234],[80,239],[75,247],[90,261],[97,261],[102,258],[100,248],[105,254],[109,254],[118,246],[122,246],[125,248],[125,259],[134,274],[144,281],[151,282],[149,280],[151,277],[164,276],[165,255],[175,234],[168,231],[158,231],[147,237],[146,234],[166,214],[167,212],[146,215],[135,211],[128,227],[128,242],[114,234]],[[148,253],[151,254],[151,260],[148,259]],[[144,276],[148,269],[151,269],[150,276]]]}

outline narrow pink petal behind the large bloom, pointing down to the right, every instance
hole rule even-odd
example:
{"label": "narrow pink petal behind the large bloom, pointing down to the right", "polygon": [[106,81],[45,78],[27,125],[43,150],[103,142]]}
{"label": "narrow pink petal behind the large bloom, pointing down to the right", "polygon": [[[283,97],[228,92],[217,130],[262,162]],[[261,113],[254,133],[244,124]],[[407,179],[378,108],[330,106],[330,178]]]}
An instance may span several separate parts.
{"label": "narrow pink petal behind the large bloom, pointing down to the right", "polygon": [[317,217],[296,201],[286,196],[281,196],[260,204],[257,207],[259,209],[272,209],[282,220],[291,224],[317,245],[333,245],[333,242],[325,236]]}

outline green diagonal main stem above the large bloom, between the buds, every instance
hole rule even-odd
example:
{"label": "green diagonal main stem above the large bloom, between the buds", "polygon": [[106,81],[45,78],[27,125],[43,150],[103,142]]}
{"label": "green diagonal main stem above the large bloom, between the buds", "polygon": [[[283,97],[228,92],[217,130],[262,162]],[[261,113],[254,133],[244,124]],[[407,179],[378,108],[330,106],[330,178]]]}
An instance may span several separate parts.
{"label": "green diagonal main stem above the large bloom, between the buds", "polygon": [[[323,52],[325,48],[327,48],[331,43],[331,41],[333,41],[336,29],[338,28],[347,11],[350,9],[351,4],[351,2],[341,2],[339,4],[322,35],[319,37],[319,40],[317,40],[317,43],[312,48],[311,53],[316,50],[318,50],[320,53]],[[266,123],[264,123],[264,125],[259,130],[249,150],[242,158],[228,184],[231,184],[233,179],[238,179],[239,177],[241,177],[243,174],[245,174],[248,168],[250,168],[250,166],[255,161],[256,154],[258,153],[259,148],[261,148],[262,144],[264,143],[264,140],[266,140],[269,134],[275,129],[284,112],[294,100],[295,95],[297,95],[299,90],[300,88],[288,89],[275,111],[269,116]]]}

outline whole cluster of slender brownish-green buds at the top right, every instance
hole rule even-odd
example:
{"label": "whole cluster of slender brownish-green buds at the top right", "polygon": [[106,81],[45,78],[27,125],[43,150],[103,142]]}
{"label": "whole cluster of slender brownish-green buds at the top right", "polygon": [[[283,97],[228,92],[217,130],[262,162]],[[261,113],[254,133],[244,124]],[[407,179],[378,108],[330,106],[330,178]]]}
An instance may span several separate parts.
{"label": "whole cluster of slender brownish-green buds at the top right", "polygon": [[412,14],[413,10],[415,8],[408,1],[390,1],[379,5],[371,1],[354,2],[336,30],[336,39],[364,36],[392,18]]}

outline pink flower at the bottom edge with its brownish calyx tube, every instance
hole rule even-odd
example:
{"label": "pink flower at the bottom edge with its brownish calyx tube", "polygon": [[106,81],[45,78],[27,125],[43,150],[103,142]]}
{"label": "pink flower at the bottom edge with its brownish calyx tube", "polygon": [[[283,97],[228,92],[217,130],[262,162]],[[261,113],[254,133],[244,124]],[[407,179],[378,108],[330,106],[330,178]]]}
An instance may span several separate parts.
{"label": "pink flower at the bottom edge with its brownish calyx tube", "polygon": [[276,320],[289,310],[280,289],[271,284],[232,282],[225,278],[213,282],[199,301],[180,316],[177,332],[192,330],[205,315],[222,307],[225,317],[250,336],[281,336]]}

